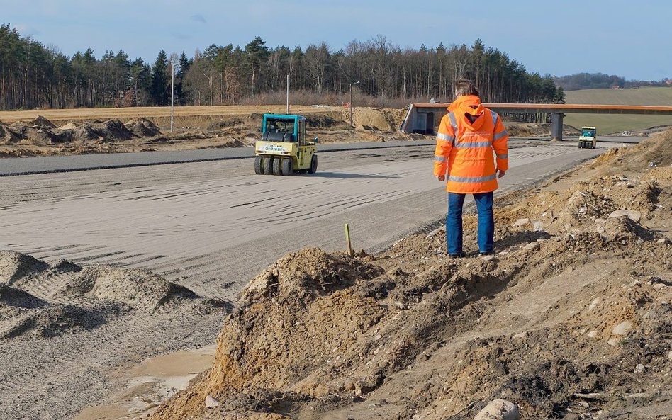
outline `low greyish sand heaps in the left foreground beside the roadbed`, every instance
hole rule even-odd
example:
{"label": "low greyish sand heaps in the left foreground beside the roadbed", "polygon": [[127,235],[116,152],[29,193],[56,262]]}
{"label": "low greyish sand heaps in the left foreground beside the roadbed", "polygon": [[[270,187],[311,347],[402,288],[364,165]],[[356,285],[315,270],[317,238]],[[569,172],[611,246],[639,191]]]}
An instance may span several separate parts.
{"label": "low greyish sand heaps in the left foreground beside the roadbed", "polygon": [[0,251],[0,339],[74,334],[131,313],[208,314],[226,306],[149,271]]}

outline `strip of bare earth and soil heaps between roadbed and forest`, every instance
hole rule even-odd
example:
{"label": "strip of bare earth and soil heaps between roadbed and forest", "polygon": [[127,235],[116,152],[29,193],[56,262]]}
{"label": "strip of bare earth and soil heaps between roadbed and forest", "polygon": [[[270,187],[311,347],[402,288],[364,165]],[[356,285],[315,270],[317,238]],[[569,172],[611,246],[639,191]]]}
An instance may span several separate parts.
{"label": "strip of bare earth and soil heaps between roadbed and forest", "polygon": [[[201,109],[202,108],[202,109]],[[220,109],[221,108],[221,109]],[[175,130],[164,108],[121,108],[101,110],[45,110],[0,113],[0,157],[48,156],[156,150],[251,147],[259,138],[262,116],[282,113],[277,106],[184,107],[176,108]],[[308,119],[308,135],[320,142],[385,142],[415,140],[422,135],[398,131],[405,110],[354,108],[350,126],[349,108],[333,106],[297,107],[293,112]],[[512,137],[544,137],[550,125],[507,123]],[[577,130],[566,127],[566,135]]]}

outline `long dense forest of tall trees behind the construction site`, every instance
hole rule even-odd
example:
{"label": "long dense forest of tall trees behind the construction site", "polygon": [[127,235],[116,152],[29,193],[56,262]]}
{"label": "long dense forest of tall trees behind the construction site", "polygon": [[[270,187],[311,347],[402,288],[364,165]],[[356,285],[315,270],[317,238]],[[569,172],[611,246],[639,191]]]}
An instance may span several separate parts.
{"label": "long dense forest of tall trees behind the construction site", "polygon": [[401,48],[384,36],[352,41],[340,50],[325,42],[305,49],[269,47],[256,37],[244,47],[210,45],[188,57],[160,51],[153,62],[130,59],[123,50],[90,48],[67,57],[16,28],[0,25],[2,109],[166,106],[172,67],[178,105],[220,105],[273,100],[286,89],[335,102],[359,81],[360,96],[380,106],[392,101],[452,99],[454,81],[473,79],[483,101],[562,103],[564,92],[551,76],[527,72],[505,52],[474,45],[439,43]]}

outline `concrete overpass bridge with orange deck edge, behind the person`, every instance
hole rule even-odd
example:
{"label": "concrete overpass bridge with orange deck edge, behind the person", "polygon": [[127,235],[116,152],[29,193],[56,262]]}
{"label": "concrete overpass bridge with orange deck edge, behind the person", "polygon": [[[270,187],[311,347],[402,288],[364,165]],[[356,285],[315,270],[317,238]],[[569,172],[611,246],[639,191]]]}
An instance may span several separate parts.
{"label": "concrete overpass bridge with orange deck edge, behind the person", "polygon": [[[401,132],[433,135],[441,118],[448,113],[450,103],[412,103],[401,123]],[[583,105],[565,103],[483,103],[496,113],[551,114],[551,137],[562,140],[562,120],[565,114],[640,114],[672,115],[672,106]]]}

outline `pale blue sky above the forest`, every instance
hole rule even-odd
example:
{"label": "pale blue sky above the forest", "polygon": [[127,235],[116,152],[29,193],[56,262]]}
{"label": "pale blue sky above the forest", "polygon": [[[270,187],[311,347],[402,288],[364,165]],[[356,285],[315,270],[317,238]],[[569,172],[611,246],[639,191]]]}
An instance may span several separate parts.
{"label": "pale blue sky above the forest", "polygon": [[672,77],[672,1],[0,0],[0,23],[66,55],[91,47],[130,57],[245,45],[340,49],[385,35],[401,47],[481,38],[542,74]]}

